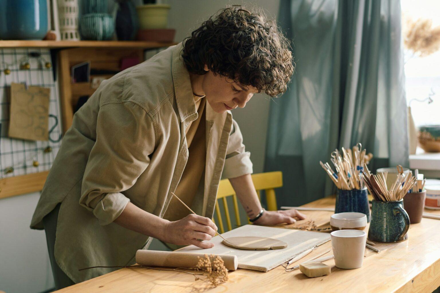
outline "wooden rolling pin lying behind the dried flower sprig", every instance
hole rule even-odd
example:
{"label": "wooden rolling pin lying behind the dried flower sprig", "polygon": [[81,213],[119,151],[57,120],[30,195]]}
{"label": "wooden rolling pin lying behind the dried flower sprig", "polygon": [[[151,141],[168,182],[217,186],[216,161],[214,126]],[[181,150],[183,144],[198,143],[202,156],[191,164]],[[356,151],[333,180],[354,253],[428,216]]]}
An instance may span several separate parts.
{"label": "wooden rolling pin lying behind the dried flower sprig", "polygon": [[[208,254],[209,255],[209,254]],[[229,271],[235,271],[238,266],[236,255],[213,254],[224,261],[224,266]],[[205,253],[188,253],[178,251],[138,250],[136,252],[136,263],[171,268],[195,268],[198,257],[205,257]]]}

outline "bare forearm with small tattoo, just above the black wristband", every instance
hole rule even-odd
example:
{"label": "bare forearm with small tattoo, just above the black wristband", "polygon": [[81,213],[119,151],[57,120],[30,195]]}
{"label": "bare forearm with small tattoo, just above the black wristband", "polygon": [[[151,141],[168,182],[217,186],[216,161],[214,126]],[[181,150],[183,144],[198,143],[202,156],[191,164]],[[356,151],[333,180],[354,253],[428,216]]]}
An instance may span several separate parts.
{"label": "bare forearm with small tattoo, just above the black wristband", "polygon": [[251,219],[256,217],[260,213],[261,203],[250,174],[230,178],[229,182],[231,182],[232,188],[234,188],[238,200],[246,210],[248,217]]}

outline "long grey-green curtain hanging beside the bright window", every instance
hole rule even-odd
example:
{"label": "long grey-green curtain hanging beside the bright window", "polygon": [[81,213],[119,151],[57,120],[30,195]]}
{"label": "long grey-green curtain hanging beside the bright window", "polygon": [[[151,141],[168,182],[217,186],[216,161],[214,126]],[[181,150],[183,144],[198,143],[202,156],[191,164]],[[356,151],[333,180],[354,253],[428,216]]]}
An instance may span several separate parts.
{"label": "long grey-green curtain hanging beside the bright window", "polygon": [[335,191],[319,165],[361,142],[370,169],[408,166],[399,0],[281,0],[279,23],[296,62],[271,103],[265,170],[283,171],[279,206]]}

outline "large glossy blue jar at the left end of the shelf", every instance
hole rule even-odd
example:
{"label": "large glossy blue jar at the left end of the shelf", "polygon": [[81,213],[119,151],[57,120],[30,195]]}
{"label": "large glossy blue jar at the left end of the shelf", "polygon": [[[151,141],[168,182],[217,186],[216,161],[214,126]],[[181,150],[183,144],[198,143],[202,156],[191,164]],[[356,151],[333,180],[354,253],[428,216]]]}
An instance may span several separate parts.
{"label": "large glossy blue jar at the left end of the shelf", "polygon": [[0,39],[42,40],[47,33],[46,0],[0,0]]}

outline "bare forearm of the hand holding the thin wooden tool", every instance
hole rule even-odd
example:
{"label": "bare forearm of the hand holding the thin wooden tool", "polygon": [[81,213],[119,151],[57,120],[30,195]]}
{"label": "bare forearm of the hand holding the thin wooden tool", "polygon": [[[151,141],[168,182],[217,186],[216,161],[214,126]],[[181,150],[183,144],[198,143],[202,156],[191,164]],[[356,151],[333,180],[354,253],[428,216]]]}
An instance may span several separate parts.
{"label": "bare forearm of the hand holding the thin wooden tool", "polygon": [[128,203],[114,222],[129,230],[163,240],[165,226],[169,221]]}

